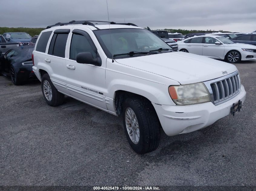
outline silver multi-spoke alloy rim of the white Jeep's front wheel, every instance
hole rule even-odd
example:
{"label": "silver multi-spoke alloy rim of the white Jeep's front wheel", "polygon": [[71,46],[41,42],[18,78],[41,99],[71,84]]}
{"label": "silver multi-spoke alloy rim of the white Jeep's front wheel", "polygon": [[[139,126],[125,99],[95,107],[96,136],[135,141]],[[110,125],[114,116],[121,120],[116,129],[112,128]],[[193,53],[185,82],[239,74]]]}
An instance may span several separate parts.
{"label": "silver multi-spoke alloy rim of the white Jeep's front wheel", "polygon": [[125,124],[131,141],[138,144],[140,140],[139,124],[134,111],[130,107],[125,110]]}

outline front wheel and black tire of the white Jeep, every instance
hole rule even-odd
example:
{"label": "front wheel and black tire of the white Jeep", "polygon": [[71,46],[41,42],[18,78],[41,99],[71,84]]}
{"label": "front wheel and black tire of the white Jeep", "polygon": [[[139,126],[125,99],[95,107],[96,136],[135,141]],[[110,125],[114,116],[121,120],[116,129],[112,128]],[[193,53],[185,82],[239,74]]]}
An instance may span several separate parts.
{"label": "front wheel and black tire of the white Jeep", "polygon": [[145,98],[127,98],[122,108],[126,138],[138,154],[154,151],[160,143],[160,122],[155,108]]}

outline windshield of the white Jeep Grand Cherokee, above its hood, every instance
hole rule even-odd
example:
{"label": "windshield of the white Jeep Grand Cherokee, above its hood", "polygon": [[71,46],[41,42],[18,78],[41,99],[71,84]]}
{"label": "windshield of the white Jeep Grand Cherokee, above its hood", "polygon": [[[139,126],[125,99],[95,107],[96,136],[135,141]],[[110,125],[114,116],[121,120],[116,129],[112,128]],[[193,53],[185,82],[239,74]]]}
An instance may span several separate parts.
{"label": "windshield of the white Jeep Grand Cherokee, above its hood", "polygon": [[[108,58],[112,58],[112,55],[129,52],[149,52],[160,48],[170,49],[170,46],[163,40],[145,29],[104,29],[93,32]],[[140,54],[136,56],[145,55]],[[125,57],[130,57],[130,55]]]}

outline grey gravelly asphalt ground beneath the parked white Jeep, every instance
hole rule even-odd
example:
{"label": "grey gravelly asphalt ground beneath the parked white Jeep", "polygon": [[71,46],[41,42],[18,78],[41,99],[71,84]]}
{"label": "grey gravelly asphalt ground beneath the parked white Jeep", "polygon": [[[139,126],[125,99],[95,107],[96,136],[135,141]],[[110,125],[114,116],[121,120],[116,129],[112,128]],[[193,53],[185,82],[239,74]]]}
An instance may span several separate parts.
{"label": "grey gravelly asphalt ground beneath the parked white Jeep", "polygon": [[247,91],[240,113],[189,134],[161,131],[145,155],[120,118],[69,97],[50,107],[38,81],[0,76],[0,185],[255,186],[256,62],[236,66]]}

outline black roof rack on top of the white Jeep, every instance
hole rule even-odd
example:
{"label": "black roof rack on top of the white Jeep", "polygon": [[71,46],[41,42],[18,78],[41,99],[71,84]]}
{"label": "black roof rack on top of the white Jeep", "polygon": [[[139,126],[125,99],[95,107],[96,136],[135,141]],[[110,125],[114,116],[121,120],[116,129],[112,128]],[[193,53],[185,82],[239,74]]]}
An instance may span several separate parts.
{"label": "black roof rack on top of the white Jeep", "polygon": [[[108,22],[108,21],[69,21],[68,23],[56,23],[56,24],[53,24],[53,25],[49,25],[49,26],[46,27],[46,29],[51,28],[51,27],[55,27],[55,26],[68,25],[68,24],[83,24],[83,25],[90,25],[90,26],[95,27],[94,24],[98,24],[98,22],[108,23],[108,24],[131,25],[131,26],[138,27],[136,24],[133,24],[133,23],[115,23],[115,22]],[[95,27],[95,28],[99,29],[98,27]]]}

